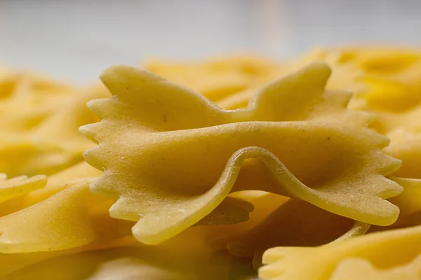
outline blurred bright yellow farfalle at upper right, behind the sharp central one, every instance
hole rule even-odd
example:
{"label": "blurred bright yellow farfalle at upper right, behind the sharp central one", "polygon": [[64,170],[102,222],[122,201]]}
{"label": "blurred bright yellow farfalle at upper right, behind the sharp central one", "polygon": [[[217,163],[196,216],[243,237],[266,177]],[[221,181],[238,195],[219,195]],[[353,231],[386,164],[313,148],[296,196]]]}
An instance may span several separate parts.
{"label": "blurred bright yellow farfalle at upper right, behind the sharp central one", "polygon": [[[420,126],[421,50],[393,47],[326,49],[304,61],[321,59],[338,78],[334,89],[356,92],[352,108],[375,113],[372,124],[382,134]],[[345,70],[345,72],[344,72]],[[341,73],[344,72],[344,73]]]}

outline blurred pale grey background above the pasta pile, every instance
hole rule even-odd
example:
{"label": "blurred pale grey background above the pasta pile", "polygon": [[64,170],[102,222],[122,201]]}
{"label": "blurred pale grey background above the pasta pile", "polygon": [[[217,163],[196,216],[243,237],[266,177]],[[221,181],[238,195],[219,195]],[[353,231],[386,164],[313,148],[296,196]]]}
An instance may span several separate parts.
{"label": "blurred pale grey background above the pasta pile", "polygon": [[0,65],[86,83],[111,64],[421,45],[419,0],[0,0]]}

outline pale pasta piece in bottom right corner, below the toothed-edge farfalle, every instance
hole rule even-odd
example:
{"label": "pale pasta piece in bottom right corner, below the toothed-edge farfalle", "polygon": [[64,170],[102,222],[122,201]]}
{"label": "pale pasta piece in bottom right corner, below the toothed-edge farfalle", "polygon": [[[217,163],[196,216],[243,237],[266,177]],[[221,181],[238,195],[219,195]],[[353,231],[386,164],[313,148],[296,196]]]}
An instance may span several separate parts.
{"label": "pale pasta piece in bottom right corner, below the toothed-edge farfalle", "polygon": [[329,280],[418,280],[421,274],[421,255],[407,265],[377,269],[367,260],[347,258],[335,268]]}

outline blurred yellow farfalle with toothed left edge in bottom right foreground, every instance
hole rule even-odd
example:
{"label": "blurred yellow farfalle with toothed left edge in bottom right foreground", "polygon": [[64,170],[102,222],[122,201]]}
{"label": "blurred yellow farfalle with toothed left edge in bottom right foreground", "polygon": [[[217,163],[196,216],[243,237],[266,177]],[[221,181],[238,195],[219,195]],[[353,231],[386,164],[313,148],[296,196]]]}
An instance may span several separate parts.
{"label": "blurred yellow farfalle with toothed left edge in bottom right foreground", "polygon": [[421,226],[375,232],[325,246],[275,247],[263,254],[262,279],[329,279],[342,260],[356,257],[378,269],[406,265],[421,252]]}

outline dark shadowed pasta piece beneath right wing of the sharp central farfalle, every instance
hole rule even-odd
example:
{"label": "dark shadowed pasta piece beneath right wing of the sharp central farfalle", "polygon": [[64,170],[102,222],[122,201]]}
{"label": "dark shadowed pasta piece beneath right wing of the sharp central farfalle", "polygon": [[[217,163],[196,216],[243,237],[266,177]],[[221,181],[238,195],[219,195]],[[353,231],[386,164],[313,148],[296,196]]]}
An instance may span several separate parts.
{"label": "dark shadowed pasta piece beneath right wing of the sharp central farfalle", "polygon": [[[262,253],[274,246],[320,246],[335,239],[363,235],[370,225],[332,214],[308,202],[288,200],[245,235],[229,240],[227,250],[253,257],[258,267]],[[342,239],[341,238],[341,239]]]}

